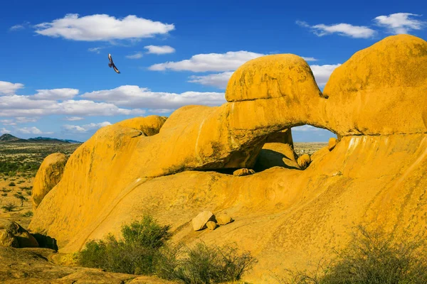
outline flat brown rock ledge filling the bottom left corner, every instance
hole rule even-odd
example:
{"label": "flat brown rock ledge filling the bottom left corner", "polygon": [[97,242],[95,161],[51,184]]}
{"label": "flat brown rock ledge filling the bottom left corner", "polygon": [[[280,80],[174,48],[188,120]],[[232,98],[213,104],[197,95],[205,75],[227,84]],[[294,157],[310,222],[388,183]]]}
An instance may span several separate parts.
{"label": "flat brown rock ledge filling the bottom left corner", "polygon": [[0,283],[4,284],[172,284],[155,277],[108,273],[100,269],[59,266],[51,249],[0,247]]}

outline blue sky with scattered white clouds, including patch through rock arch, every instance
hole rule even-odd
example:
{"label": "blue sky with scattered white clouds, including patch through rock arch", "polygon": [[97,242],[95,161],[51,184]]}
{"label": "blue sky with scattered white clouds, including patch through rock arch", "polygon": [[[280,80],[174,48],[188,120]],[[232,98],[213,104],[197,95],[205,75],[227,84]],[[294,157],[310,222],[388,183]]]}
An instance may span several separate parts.
{"label": "blue sky with scattered white clouds, including patch through rock arch", "polygon": [[[85,141],[133,116],[217,106],[238,66],[273,53],[304,57],[322,89],[335,67],[386,36],[427,39],[425,1],[204,2],[2,3],[0,134]],[[311,126],[292,134],[334,136]]]}

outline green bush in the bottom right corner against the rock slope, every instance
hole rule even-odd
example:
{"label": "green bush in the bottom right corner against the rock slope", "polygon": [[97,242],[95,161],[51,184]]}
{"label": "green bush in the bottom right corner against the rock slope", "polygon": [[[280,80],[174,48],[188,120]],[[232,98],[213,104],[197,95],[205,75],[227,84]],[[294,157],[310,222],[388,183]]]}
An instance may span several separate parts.
{"label": "green bush in the bottom right corner against the rock slope", "polygon": [[314,272],[296,271],[284,283],[427,283],[427,257],[424,240],[393,241],[384,232],[358,226],[349,246],[337,258],[318,265]]}

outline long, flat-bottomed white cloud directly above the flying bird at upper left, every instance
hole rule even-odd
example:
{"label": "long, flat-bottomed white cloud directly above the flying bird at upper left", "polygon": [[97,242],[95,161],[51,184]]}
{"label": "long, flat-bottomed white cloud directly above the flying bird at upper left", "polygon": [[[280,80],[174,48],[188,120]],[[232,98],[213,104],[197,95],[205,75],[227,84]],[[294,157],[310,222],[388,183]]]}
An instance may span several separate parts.
{"label": "long, flat-bottomed white cloud directly above the flying bird at upper left", "polygon": [[77,13],[68,13],[48,23],[34,26],[36,33],[68,40],[124,40],[152,38],[154,35],[167,34],[174,30],[173,24],[151,21],[129,15],[115,18],[106,14],[79,17]]}

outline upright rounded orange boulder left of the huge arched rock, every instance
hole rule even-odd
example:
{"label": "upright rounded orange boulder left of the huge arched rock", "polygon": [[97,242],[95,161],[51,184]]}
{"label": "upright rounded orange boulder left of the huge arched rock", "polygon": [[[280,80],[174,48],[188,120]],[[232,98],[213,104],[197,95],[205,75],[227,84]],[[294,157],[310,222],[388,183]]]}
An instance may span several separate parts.
{"label": "upright rounded orange boulder left of the huge arched rock", "polygon": [[62,178],[67,156],[63,153],[48,155],[38,168],[33,182],[33,210],[36,210],[41,200],[58,184]]}

